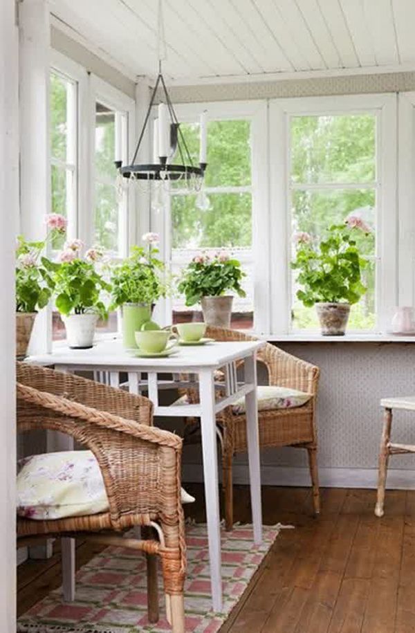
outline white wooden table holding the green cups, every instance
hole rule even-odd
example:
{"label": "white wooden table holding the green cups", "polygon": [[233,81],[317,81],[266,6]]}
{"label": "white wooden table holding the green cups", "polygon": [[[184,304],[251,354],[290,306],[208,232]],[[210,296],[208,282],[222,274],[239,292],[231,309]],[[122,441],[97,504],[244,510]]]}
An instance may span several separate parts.
{"label": "white wooden table holding the green cups", "polygon": [[[219,514],[218,453],[216,450],[216,414],[239,398],[246,402],[246,425],[248,438],[248,463],[250,498],[252,506],[253,539],[255,544],[262,540],[261,477],[259,469],[259,435],[257,414],[257,364],[256,355],[264,342],[234,341],[210,342],[206,345],[178,347],[171,356],[141,358],[131,351],[125,351],[120,340],[98,342],[91,349],[69,349],[56,347],[50,354],[30,356],[27,363],[53,366],[60,371],[94,371],[95,377],[104,380],[109,376],[109,384],[120,386],[120,374],[128,376],[130,392],[145,392],[154,403],[155,416],[201,419],[203,453],[203,476],[205,486],[206,517],[208,523],[208,543],[210,558],[210,578],[212,607],[215,612],[222,609],[221,578],[221,517]],[[243,361],[243,371],[237,371],[237,364]],[[215,385],[215,371],[222,369],[225,384],[221,392]],[[172,376],[166,379],[165,376]],[[189,380],[183,381],[183,374]],[[241,378],[241,374],[243,378]],[[199,385],[199,403],[166,406],[159,403],[162,389]],[[60,436],[60,434],[59,434]],[[73,440],[62,436],[56,440],[53,450],[71,450]],[[73,539],[64,539],[62,546],[64,564],[68,573],[64,575],[64,591],[71,595],[75,591],[75,549]]]}

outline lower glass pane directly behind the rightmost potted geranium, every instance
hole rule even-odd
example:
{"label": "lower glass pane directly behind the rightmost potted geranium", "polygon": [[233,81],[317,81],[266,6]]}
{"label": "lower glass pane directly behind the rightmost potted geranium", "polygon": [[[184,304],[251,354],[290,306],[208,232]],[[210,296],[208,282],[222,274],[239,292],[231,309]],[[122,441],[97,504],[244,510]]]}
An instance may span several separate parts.
{"label": "lower glass pane directly behind the rightmost potted geranium", "polygon": [[[353,214],[361,217],[371,228],[375,229],[376,195],[374,190],[331,190],[331,191],[294,191],[293,192],[293,233],[305,231],[316,237],[324,237],[326,229],[333,223],[342,223]],[[363,283],[368,290],[358,304],[351,307],[349,330],[369,330],[375,326],[375,232],[367,238],[356,230],[356,242],[362,255],[371,258],[369,266],[362,271]],[[295,248],[293,245],[294,255]],[[315,308],[306,308],[296,293],[299,289],[295,283],[297,271],[293,270],[292,279],[292,320],[293,329],[318,330],[319,324]]]}

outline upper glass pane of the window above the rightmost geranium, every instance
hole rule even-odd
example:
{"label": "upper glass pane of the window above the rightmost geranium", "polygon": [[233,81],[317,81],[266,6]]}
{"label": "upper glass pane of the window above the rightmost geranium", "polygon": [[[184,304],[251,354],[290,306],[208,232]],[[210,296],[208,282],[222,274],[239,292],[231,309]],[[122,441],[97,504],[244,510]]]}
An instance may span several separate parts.
{"label": "upper glass pane of the window above the rightmost geranium", "polygon": [[376,116],[295,116],[291,178],[295,183],[369,183],[376,178]]}

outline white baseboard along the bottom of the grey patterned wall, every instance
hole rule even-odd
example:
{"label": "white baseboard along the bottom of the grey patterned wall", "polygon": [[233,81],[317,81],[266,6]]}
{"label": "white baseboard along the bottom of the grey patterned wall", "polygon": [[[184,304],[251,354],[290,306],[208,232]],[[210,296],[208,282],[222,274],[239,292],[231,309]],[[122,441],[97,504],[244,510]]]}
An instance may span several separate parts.
{"label": "white baseboard along the bottom of the grey patterned wall", "polygon": [[[377,468],[319,468],[322,488],[376,488]],[[248,484],[248,467],[235,464],[233,469],[235,484]],[[200,483],[203,481],[201,464],[183,464],[183,481]],[[308,468],[284,468],[282,466],[262,466],[261,483],[264,486],[309,486]],[[415,470],[390,468],[387,473],[387,488],[395,490],[415,490]]]}

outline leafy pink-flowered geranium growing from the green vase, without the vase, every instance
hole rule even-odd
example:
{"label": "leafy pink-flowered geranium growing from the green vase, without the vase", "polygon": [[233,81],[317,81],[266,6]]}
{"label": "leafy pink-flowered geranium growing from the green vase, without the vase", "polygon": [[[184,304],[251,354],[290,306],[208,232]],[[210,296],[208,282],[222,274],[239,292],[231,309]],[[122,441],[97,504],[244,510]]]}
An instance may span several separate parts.
{"label": "leafy pink-flowered geranium growing from the green vase, without the vase", "polygon": [[126,303],[154,304],[166,294],[165,265],[158,258],[157,233],[145,233],[146,246],[133,246],[131,254],[111,270],[113,308]]}

